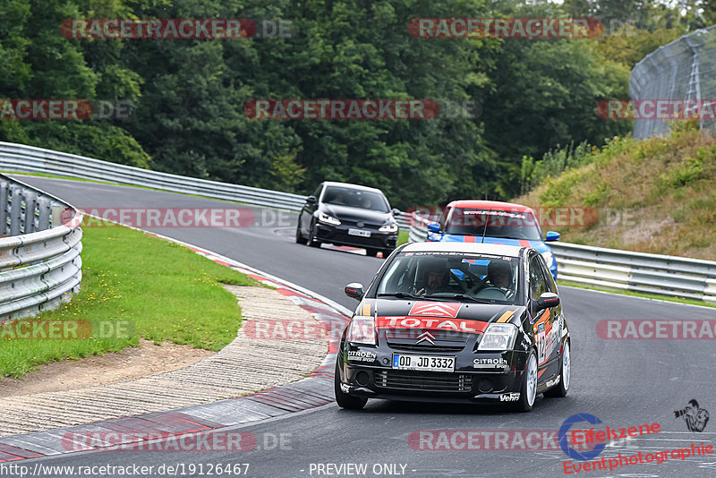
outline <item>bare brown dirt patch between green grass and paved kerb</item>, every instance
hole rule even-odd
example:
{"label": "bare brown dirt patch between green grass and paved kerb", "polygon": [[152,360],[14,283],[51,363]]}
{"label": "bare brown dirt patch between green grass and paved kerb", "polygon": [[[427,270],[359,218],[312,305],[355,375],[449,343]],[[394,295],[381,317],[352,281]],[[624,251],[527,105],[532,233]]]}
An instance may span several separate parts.
{"label": "bare brown dirt patch between green grass and paved kerb", "polygon": [[95,355],[80,360],[47,363],[22,379],[0,380],[0,397],[58,392],[123,380],[136,380],[163,371],[174,371],[215,354],[209,350],[165,342],[155,346],[140,339],[139,347],[124,349],[120,354]]}

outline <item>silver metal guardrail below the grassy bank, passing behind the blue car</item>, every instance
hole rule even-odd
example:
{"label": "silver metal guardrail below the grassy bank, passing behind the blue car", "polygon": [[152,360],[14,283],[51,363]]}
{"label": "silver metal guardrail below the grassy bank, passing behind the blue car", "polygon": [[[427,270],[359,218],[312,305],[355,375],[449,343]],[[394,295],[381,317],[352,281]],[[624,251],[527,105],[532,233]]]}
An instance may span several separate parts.
{"label": "silver metal guardrail below the grassy bank, passing behind the blue car", "polygon": [[[427,220],[414,217],[410,242],[427,237]],[[571,243],[550,243],[561,280],[647,294],[672,295],[716,303],[716,262],[619,251]]]}

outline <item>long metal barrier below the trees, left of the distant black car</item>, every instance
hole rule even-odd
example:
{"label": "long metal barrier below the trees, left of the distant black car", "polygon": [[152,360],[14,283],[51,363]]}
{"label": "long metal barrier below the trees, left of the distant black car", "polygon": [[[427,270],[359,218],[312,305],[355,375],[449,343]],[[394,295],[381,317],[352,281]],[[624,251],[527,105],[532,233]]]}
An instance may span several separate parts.
{"label": "long metal barrier below the trees, left of the distant black car", "polygon": [[[52,149],[0,142],[0,167],[18,173],[63,175],[132,186],[145,186],[169,192],[196,194],[207,198],[244,202],[256,206],[298,211],[306,199],[300,194],[270,191],[240,184],[220,183],[182,175],[170,175],[141,167],[124,166],[99,159],[77,156]],[[398,226],[407,228],[397,217]],[[2,218],[0,218],[2,222]]]}

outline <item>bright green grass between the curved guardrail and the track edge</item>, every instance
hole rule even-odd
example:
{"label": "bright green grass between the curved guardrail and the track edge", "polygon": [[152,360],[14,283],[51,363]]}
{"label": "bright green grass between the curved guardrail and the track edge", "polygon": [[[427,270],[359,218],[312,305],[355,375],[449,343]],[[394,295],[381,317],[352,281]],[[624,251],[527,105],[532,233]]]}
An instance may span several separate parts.
{"label": "bright green grass between the curved guardrail and the track edge", "polygon": [[139,337],[220,350],[236,337],[241,309],[223,284],[255,286],[250,277],[175,243],[124,226],[86,227],[81,292],[41,320],[121,320],[129,337],[18,339],[0,329],[0,377],[21,377],[41,363],[118,352]]}

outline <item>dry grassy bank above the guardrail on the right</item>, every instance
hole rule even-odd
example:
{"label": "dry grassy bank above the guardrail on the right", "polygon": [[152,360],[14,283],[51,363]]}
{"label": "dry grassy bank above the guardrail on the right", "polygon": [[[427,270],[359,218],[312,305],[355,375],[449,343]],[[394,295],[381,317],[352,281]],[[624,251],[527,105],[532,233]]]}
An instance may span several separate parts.
{"label": "dry grassy bank above the guardrail on the right", "polygon": [[514,201],[585,208],[591,226],[543,226],[568,243],[716,260],[716,139],[690,126],[669,138],[617,138]]}

